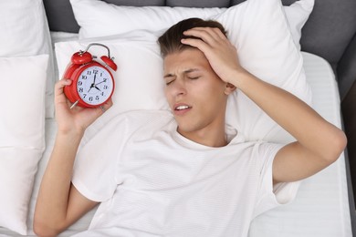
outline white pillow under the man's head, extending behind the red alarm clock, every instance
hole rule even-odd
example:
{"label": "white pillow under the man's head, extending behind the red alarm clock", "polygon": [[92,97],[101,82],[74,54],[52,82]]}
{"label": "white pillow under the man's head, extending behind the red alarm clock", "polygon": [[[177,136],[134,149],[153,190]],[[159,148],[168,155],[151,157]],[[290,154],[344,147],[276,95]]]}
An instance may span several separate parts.
{"label": "white pillow under the man's head, extending behind the red alarm clock", "polygon": [[[88,17],[89,21],[91,17]],[[211,18],[225,26],[230,40],[237,48],[240,62],[247,70],[310,103],[311,95],[302,67],[303,60],[293,42],[279,0],[247,0]],[[111,18],[110,21],[115,22]],[[161,34],[162,31],[154,34],[136,31],[126,36],[116,36],[116,43],[112,40],[115,36],[111,36],[111,39],[102,41],[98,38],[83,40],[82,46],[78,42],[59,44],[56,48],[58,67],[63,70],[69,57],[75,51],[85,48],[89,42],[107,44],[119,65],[118,73],[114,74],[118,84],[114,103],[118,105],[110,108],[110,113],[100,120],[104,122],[106,118],[123,110],[167,108],[162,91],[162,58],[155,45],[156,37]],[[226,121],[242,131],[246,139],[277,142],[291,140],[287,132],[280,129],[242,93],[236,92],[229,98]]]}

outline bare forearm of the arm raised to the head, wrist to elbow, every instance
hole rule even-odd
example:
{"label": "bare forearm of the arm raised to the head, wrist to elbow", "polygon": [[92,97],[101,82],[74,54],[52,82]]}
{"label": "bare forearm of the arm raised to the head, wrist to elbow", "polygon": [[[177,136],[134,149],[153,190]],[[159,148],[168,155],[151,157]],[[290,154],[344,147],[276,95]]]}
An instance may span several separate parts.
{"label": "bare forearm of the arm raised to the head, wrist to elbow", "polygon": [[305,148],[330,153],[327,147],[342,133],[300,99],[249,73],[240,75],[236,84]]}

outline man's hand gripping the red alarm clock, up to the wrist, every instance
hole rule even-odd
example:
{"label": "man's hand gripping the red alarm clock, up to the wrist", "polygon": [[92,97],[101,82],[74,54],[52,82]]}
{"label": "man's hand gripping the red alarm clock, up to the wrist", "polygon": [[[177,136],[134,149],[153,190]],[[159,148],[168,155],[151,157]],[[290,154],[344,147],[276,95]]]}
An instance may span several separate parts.
{"label": "man's hand gripping the red alarm clock, up to the wrist", "polygon": [[104,110],[112,106],[112,100],[109,99],[102,108],[70,108],[71,103],[63,92],[63,88],[72,83],[70,79],[61,79],[55,86],[55,107],[56,119],[58,122],[58,132],[66,134],[70,132],[82,134],[99,116],[104,113]]}

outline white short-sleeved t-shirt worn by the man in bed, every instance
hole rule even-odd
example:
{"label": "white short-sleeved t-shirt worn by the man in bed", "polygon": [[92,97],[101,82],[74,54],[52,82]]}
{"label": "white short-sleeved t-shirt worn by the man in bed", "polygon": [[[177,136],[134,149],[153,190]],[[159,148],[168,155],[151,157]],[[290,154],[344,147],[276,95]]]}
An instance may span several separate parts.
{"label": "white short-sleeved t-shirt worn by the man in bed", "polygon": [[79,235],[243,237],[258,214],[293,200],[298,182],[273,191],[282,145],[226,128],[229,144],[211,148],[176,129],[169,111],[136,111],[83,139],[73,183],[101,203]]}

